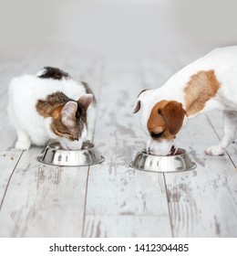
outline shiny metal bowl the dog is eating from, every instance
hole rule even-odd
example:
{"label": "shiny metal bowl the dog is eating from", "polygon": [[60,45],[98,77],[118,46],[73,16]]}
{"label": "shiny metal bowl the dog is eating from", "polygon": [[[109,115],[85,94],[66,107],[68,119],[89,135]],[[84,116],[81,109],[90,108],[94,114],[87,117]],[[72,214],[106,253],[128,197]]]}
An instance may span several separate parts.
{"label": "shiny metal bowl the dog is eating from", "polygon": [[170,156],[149,155],[145,151],[140,151],[129,166],[141,171],[171,173],[188,171],[197,165],[184,149],[179,148],[176,155]]}

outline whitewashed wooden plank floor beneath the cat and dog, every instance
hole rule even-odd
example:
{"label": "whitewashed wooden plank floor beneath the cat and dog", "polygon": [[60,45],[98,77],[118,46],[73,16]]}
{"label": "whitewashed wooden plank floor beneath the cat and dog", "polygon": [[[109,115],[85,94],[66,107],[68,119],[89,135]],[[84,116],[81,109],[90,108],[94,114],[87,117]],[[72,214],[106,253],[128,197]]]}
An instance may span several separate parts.
{"label": "whitewashed wooden plank floor beneath the cat and dog", "polygon": [[[9,50],[0,55],[1,237],[237,237],[237,147],[203,153],[222,135],[221,113],[199,116],[182,133],[181,146],[197,163],[176,174],[129,167],[145,139],[130,114],[140,90],[158,87],[205,50],[157,56],[105,58],[70,48]],[[98,98],[94,143],[106,158],[90,167],[37,162],[42,148],[15,151],[6,115],[9,80],[46,65],[86,80]]]}

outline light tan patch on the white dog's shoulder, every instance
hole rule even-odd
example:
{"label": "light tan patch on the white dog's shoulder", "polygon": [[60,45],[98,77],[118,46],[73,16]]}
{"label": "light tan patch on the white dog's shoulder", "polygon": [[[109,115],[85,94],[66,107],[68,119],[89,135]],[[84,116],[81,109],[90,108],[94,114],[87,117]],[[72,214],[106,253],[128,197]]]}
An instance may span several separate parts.
{"label": "light tan patch on the white dog's shoulder", "polygon": [[201,112],[206,102],[216,95],[220,87],[214,70],[199,71],[191,76],[184,90],[187,115]]}

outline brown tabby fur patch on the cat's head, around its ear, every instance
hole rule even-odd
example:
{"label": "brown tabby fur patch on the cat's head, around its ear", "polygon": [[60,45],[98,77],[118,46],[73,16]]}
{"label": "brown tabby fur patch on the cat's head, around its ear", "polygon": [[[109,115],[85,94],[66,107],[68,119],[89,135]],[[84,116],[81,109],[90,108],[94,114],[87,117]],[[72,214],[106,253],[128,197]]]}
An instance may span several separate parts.
{"label": "brown tabby fur patch on the cat's head, around its ear", "polygon": [[77,139],[81,136],[81,132],[87,123],[87,110],[80,102],[77,102],[77,112],[74,125],[67,127],[62,123],[62,109],[69,99],[63,92],[56,92],[48,95],[46,100],[38,100],[36,103],[36,111],[43,117],[52,117],[50,124],[51,130],[58,136],[66,137],[70,140]]}

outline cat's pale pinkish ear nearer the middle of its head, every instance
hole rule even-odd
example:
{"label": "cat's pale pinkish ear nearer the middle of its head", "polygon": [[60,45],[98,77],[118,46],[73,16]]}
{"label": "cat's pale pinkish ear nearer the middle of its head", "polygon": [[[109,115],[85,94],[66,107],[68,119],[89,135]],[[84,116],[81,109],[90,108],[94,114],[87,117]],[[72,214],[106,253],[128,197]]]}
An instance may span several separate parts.
{"label": "cat's pale pinkish ear nearer the middle of its head", "polygon": [[62,123],[67,127],[73,127],[76,120],[77,102],[68,101],[61,111]]}

